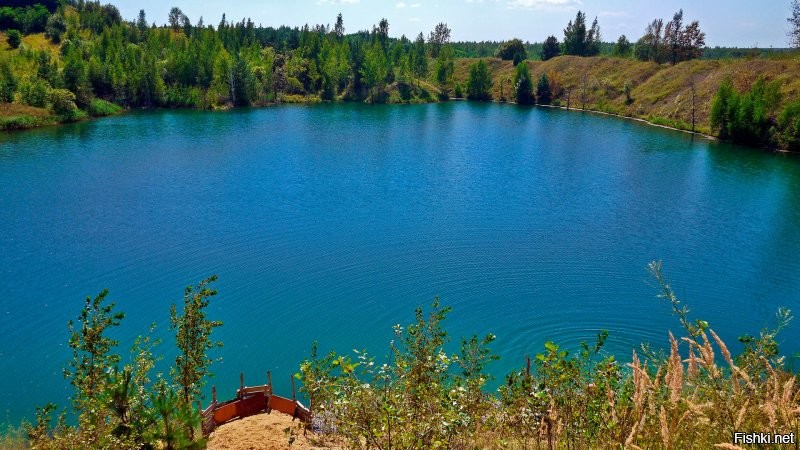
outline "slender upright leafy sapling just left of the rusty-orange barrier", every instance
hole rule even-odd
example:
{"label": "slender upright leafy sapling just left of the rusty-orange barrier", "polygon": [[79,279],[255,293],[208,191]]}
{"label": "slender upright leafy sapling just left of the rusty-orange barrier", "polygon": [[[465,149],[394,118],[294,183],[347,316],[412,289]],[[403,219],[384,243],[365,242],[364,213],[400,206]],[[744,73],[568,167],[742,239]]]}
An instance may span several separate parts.
{"label": "slender upright leafy sapling just left of the rusty-orange barrier", "polygon": [[211,339],[214,328],[222,322],[209,320],[206,309],[217,291],[209,285],[217,281],[216,275],[201,281],[196,287],[189,286],[183,294],[183,311],[179,315],[175,304],[170,308],[170,329],[175,330],[175,343],[180,354],[175,358],[172,378],[181,388],[181,399],[185,405],[193,405],[202,398],[205,378],[211,374],[213,360],[208,351],[222,347],[222,342]]}

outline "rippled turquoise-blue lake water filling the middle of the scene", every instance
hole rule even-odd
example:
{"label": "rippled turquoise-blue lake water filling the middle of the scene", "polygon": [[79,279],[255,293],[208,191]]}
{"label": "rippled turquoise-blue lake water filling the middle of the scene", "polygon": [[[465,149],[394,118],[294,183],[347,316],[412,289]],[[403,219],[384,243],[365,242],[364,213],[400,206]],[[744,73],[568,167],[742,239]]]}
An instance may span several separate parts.
{"label": "rippled turquoise-blue lake water filling the middle of the scene", "polygon": [[[109,288],[117,336],[219,275],[213,383],[277,388],[312,342],[383,355],[439,296],[501,377],[600,329],[622,358],[679,332],[664,261],[728,341],[798,307],[800,159],[616,118],[474,103],[136,112],[0,135],[0,412],[64,404],[67,321]],[[800,350],[800,324],[782,335]]]}

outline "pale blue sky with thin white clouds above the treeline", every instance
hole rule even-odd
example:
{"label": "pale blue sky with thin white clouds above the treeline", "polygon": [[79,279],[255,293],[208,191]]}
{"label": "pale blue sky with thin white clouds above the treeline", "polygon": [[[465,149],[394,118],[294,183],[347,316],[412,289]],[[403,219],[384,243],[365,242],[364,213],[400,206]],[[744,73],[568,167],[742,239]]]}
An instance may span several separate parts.
{"label": "pale blue sky with thin white clouds above the treeline", "polygon": [[[102,0],[106,3],[108,0]],[[453,41],[502,41],[514,37],[542,42],[549,35],[563,39],[564,27],[578,10],[597,17],[604,41],[621,34],[635,42],[655,18],[670,19],[679,9],[684,23],[700,21],[710,47],[787,47],[786,18],[791,0],[111,0],[126,20],[144,9],[148,22],[163,24],[172,6],[196,23],[219,23],[249,17],[263,26],[333,25],[342,13],[346,32],[371,29],[389,20],[389,34],[425,36],[439,23],[452,30]]]}

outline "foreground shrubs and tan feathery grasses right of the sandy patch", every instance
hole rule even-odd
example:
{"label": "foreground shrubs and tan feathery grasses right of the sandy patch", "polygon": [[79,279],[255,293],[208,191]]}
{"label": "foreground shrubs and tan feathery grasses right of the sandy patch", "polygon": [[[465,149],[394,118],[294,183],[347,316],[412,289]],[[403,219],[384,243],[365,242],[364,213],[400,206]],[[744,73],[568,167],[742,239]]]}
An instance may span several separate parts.
{"label": "foreground shrubs and tan feathery grasses right of the sandy patch", "polygon": [[530,370],[486,393],[494,336],[448,354],[449,309],[436,301],[395,326],[386,362],[366,352],[320,357],[315,344],[298,377],[317,426],[358,449],[735,449],[734,430],[798,435],[797,379],[776,343],[789,312],[779,310],[775,329],[740,338],[734,357],[707,323],[690,322],[660,263],[650,270],[684,329],[680,339],[670,333],[669,356],[643,347],[621,364],[602,352],[605,332],[574,355],[547,342]]}

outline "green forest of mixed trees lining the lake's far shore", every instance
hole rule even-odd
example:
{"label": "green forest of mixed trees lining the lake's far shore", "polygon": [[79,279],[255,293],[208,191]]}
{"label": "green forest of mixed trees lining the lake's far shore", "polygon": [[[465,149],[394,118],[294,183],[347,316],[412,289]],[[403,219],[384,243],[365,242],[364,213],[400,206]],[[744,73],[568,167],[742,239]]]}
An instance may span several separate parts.
{"label": "green forest of mixed trees lining the lake's far shore", "polygon": [[[0,50],[0,129],[81,120],[137,107],[414,103],[452,97],[561,105],[569,104],[571,89],[559,89],[564,86],[559,86],[558,74],[538,74],[529,83],[525,70],[519,69],[513,80],[498,80],[492,64],[488,70],[478,70],[478,65],[499,58],[515,67],[526,61],[530,68],[532,61],[599,56],[675,66],[704,53],[712,58],[739,56],[732,49],[706,49],[700,24],[684,20],[682,10],[671,19],[648,23],[636,41],[622,35],[613,43],[603,40],[597,18],[578,11],[563,36],[551,35],[532,44],[520,39],[451,42],[446,23],[410,38],[391,37],[387,19],[371,30],[349,31],[341,14],[333,27],[275,28],[256,26],[249,18],[231,21],[225,15],[216,24],[202,17],[193,22],[173,7],[159,25],[144,10],[128,21],[115,6],[99,1],[15,0],[6,5],[0,8],[0,37],[6,47]],[[766,55],[791,58],[793,54]],[[751,51],[745,57],[756,56]],[[469,70],[460,71],[457,62],[465,60]],[[502,91],[506,81],[508,95],[494,95],[492,87],[499,84]],[[618,87],[628,104],[636,102],[630,95],[634,83],[625,80]],[[740,89],[751,87],[752,82]],[[796,150],[800,118],[797,105],[789,100],[762,102],[765,117],[756,119],[761,122],[755,126],[764,130],[757,139],[743,140],[740,133],[727,132],[727,122],[721,119],[709,120],[707,132],[749,145]],[[604,100],[596,103],[598,108],[588,108],[604,110]],[[585,101],[583,107],[587,108]]]}

